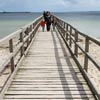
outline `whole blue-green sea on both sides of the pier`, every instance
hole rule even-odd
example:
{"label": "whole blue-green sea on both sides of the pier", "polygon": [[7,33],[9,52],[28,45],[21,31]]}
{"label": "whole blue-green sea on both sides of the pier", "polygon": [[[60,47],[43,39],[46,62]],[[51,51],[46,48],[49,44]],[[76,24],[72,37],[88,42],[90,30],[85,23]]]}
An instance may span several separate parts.
{"label": "whole blue-green sea on both sides of the pier", "polygon": [[[100,11],[52,13],[80,32],[100,38]],[[0,13],[0,39],[34,21],[42,13]]]}

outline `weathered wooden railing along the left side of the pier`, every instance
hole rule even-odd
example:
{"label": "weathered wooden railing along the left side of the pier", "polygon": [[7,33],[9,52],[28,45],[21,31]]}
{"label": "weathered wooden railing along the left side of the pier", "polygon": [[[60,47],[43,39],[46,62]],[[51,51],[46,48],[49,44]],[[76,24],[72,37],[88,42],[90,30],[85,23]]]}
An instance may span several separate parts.
{"label": "weathered wooden railing along the left side of the pier", "polygon": [[[6,69],[6,66],[9,65],[9,67],[11,68],[11,73],[10,73],[7,81],[12,76],[12,74],[16,70],[16,67],[20,64],[21,60],[26,55],[26,53],[35,37],[35,34],[40,26],[40,21],[42,18],[43,18],[42,16],[37,18],[32,23],[22,27],[21,29],[17,30],[16,32],[14,32],[0,40],[0,47],[9,49],[8,59],[2,65],[0,65],[0,75],[3,74],[3,72]],[[5,82],[5,85],[7,85],[6,84],[7,81]],[[4,85],[4,87],[5,87],[5,85]],[[2,94],[3,94],[3,89],[4,88],[2,88],[2,90],[1,90]]]}

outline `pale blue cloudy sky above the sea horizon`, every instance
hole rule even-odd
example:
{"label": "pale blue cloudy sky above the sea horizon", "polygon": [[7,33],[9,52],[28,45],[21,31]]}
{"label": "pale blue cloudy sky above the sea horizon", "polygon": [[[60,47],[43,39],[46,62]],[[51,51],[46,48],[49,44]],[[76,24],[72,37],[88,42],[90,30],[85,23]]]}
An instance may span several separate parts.
{"label": "pale blue cloudy sky above the sea horizon", "polygon": [[100,0],[0,0],[0,12],[100,11]]}

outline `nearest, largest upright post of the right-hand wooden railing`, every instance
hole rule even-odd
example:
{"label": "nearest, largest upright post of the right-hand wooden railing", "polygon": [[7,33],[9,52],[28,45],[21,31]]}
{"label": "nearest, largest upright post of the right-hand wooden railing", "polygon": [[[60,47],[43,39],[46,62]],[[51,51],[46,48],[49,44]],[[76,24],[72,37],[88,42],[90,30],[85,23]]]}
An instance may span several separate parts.
{"label": "nearest, largest upright post of the right-hand wooden railing", "polygon": [[89,52],[89,39],[86,37],[85,40],[85,57],[84,57],[84,69],[88,71],[88,57],[86,53]]}

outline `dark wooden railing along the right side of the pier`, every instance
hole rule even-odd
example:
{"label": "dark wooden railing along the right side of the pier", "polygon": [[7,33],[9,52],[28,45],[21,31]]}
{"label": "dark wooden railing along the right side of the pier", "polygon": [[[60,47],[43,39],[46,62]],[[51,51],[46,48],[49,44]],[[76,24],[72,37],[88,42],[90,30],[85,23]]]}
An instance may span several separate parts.
{"label": "dark wooden railing along the right side of the pier", "polygon": [[[90,89],[93,91],[94,96],[97,98],[97,100],[100,100],[100,94],[95,89],[94,85],[90,81],[90,78],[88,77],[88,66],[89,61],[91,61],[94,66],[99,70],[100,73],[100,62],[98,62],[96,59],[94,59],[89,52],[89,46],[91,45],[90,42],[96,44],[98,48],[100,48],[100,41],[97,40],[94,37],[88,36],[84,33],[79,32],[76,28],[71,26],[70,24],[66,23],[60,18],[57,18],[54,16],[57,22],[57,30],[59,31],[60,35],[62,36],[66,46],[68,47],[72,57],[74,58],[76,64],[79,66],[84,78],[86,79]],[[82,44],[80,44],[82,39],[84,39],[84,46],[82,47]],[[79,51],[82,52],[84,55],[83,58],[83,64],[79,60]],[[100,51],[97,51],[100,52]],[[100,56],[100,55],[98,55]]]}

